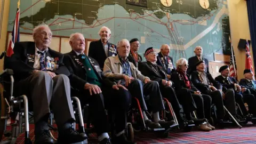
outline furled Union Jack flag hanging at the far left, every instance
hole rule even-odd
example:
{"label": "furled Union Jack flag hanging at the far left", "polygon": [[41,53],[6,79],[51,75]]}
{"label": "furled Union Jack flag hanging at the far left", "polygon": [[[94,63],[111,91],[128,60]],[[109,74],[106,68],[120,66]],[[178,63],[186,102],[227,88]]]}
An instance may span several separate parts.
{"label": "furled Union Jack flag hanging at the far left", "polygon": [[20,41],[20,30],[19,30],[19,21],[20,21],[20,0],[18,1],[18,9],[16,12],[16,17],[12,30],[12,39],[10,39],[8,48],[7,48],[7,57],[11,57],[13,54],[13,47],[16,42]]}

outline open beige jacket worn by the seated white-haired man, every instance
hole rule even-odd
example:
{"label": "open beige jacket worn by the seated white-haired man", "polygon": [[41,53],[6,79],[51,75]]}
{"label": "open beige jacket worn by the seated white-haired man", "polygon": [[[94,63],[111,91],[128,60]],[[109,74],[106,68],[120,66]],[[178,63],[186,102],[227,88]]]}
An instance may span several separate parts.
{"label": "open beige jacket worn by the seated white-haired man", "polygon": [[[129,64],[134,79],[140,79],[142,82],[144,82],[145,79],[149,79],[149,77],[143,76],[132,62],[129,62]],[[108,57],[105,60],[103,75],[109,78],[123,79],[122,63],[119,60],[118,55],[115,57]]]}

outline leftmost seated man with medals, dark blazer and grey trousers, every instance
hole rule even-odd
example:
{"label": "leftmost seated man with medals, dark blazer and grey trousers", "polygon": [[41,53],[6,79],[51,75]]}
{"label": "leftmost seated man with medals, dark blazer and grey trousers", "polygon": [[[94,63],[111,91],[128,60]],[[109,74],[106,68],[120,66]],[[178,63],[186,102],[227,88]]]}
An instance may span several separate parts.
{"label": "leftmost seated man with medals, dark blazer and grey trousers", "polygon": [[58,143],[76,143],[87,138],[76,132],[70,84],[63,65],[63,55],[49,48],[52,32],[47,25],[33,29],[34,42],[14,45],[14,54],[8,58],[7,68],[14,72],[14,95],[28,96],[35,123],[35,143],[54,143],[50,137],[48,119],[50,107],[58,126]]}

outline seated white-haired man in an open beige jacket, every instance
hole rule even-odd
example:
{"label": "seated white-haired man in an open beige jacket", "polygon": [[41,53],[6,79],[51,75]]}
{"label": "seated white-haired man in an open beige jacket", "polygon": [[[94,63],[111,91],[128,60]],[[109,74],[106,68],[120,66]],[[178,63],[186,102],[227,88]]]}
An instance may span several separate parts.
{"label": "seated white-haired man in an open beige jacket", "polygon": [[[143,76],[140,71],[129,62],[127,57],[130,52],[130,43],[127,39],[122,39],[117,44],[118,55],[108,57],[105,61],[103,73],[106,77],[114,78],[117,83],[125,86],[131,95],[138,99],[142,109],[143,123],[150,129],[160,127],[170,127],[174,121],[164,121],[159,118],[159,111],[165,109],[159,85],[155,81],[150,81],[149,77]],[[151,110],[153,111],[153,121],[147,115],[147,105],[144,95],[149,95]]]}

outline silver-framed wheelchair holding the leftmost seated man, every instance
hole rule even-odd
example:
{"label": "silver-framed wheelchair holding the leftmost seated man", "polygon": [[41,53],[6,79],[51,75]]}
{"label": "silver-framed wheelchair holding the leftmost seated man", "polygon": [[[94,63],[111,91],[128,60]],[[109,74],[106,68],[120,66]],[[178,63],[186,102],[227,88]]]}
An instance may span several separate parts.
{"label": "silver-framed wheelchair holding the leftmost seated man", "polygon": [[[0,56],[2,59],[5,56],[3,52]],[[6,61],[6,58],[5,58]],[[4,61],[4,65],[6,65]],[[1,119],[0,119],[0,143],[15,143],[17,138],[21,133],[23,133],[23,126],[25,127],[25,143],[30,144],[32,141],[29,138],[29,120],[33,119],[33,113],[29,111],[28,98],[26,95],[20,95],[19,97],[14,97],[13,95],[13,70],[5,69],[2,74],[0,74],[0,96],[1,96]],[[78,132],[84,133],[84,122],[80,101],[77,97],[71,97],[74,113],[76,116],[76,121],[78,121]],[[17,113],[19,114],[19,121],[11,124],[11,131],[6,130],[7,119],[15,119]],[[29,118],[29,115],[32,116]],[[58,129],[53,126],[53,113],[50,114],[49,127],[53,131]],[[79,120],[77,120],[79,119]],[[73,128],[76,128],[76,123],[73,124]],[[50,131],[50,130],[49,130]],[[51,134],[51,131],[50,131]],[[3,135],[5,139],[2,140]],[[57,141],[51,134],[51,137]],[[2,141],[1,141],[2,140]],[[87,139],[83,142],[76,142],[77,144],[87,143]]]}

